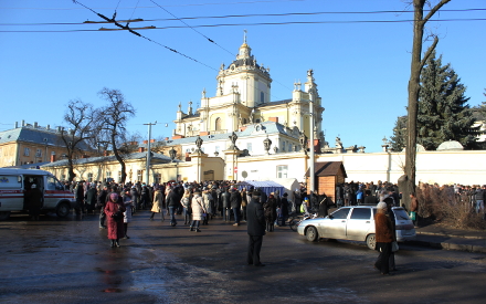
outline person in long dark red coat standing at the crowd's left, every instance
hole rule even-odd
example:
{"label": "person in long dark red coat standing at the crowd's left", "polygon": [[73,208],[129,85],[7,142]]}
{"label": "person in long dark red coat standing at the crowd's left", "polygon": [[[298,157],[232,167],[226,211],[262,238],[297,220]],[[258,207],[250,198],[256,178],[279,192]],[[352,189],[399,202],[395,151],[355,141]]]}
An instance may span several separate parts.
{"label": "person in long dark red coat standing at the crowd's left", "polygon": [[126,208],[123,198],[116,192],[109,195],[105,206],[105,213],[108,227],[108,239],[112,241],[112,248],[119,247],[119,239],[125,237],[124,214]]}

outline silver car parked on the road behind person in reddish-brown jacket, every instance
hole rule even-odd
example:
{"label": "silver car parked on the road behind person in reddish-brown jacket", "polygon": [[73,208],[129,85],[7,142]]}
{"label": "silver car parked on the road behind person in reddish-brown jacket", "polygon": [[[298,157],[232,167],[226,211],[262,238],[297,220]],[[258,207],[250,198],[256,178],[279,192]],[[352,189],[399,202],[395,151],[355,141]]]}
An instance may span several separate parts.
{"label": "silver car parked on the road behind person in reddish-brown jacket", "polygon": [[[413,240],[416,237],[412,220],[402,207],[392,208],[395,216],[397,241]],[[321,238],[366,242],[374,250],[376,206],[341,207],[326,218],[309,219],[300,222],[297,232],[308,241]]]}

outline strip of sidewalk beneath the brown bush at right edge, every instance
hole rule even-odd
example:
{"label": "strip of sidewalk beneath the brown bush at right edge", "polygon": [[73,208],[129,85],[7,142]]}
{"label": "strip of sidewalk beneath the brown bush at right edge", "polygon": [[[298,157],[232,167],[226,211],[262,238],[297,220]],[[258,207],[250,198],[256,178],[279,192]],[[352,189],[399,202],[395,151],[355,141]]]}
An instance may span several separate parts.
{"label": "strip of sidewalk beneath the brown bush at right edge", "polygon": [[430,224],[416,228],[416,239],[408,243],[446,250],[486,253],[486,231],[469,231]]}

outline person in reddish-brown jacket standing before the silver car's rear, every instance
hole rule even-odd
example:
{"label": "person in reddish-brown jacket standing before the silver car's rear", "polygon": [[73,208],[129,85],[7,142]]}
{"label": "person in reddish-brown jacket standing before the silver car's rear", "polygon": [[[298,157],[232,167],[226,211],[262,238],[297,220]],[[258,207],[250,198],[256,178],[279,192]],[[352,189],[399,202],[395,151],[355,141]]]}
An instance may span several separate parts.
{"label": "person in reddish-brown jacket standing before the silver car's rear", "polygon": [[376,249],[381,253],[374,263],[374,268],[378,269],[381,274],[390,274],[389,258],[391,253],[391,242],[393,241],[393,228],[390,218],[385,216],[387,203],[380,201],[377,205],[377,214],[374,216]]}

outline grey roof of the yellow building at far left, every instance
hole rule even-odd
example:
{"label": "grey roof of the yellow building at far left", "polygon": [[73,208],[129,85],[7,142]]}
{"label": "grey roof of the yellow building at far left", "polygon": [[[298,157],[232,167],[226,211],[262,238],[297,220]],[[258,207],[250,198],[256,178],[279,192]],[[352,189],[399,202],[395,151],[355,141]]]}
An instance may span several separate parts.
{"label": "grey roof of the yellow building at far left", "polygon": [[[61,138],[61,134],[55,129],[46,129],[43,127],[23,126],[19,128],[8,129],[0,132],[0,144],[10,141],[25,141],[42,144],[47,146],[64,147],[64,143]],[[80,143],[78,148],[82,150],[88,150],[88,146],[85,143]]]}

